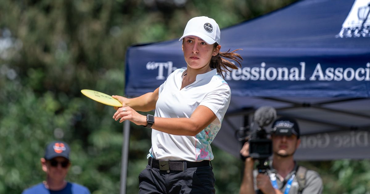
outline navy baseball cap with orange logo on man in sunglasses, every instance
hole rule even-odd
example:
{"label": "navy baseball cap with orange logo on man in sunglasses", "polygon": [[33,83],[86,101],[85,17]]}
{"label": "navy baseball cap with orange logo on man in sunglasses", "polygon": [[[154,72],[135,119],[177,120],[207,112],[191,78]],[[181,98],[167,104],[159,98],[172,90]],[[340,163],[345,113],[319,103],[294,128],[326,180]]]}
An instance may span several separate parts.
{"label": "navy baseball cap with orange logo on man in sunglasses", "polygon": [[69,152],[70,147],[67,143],[63,141],[53,141],[48,144],[45,148],[45,156],[46,160],[51,160],[55,157],[64,157],[69,160]]}

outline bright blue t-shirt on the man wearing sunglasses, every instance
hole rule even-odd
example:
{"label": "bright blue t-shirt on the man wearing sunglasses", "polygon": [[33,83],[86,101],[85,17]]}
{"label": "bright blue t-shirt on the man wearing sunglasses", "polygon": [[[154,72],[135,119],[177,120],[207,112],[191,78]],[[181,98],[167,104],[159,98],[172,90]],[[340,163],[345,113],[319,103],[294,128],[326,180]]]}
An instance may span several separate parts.
{"label": "bright blue t-shirt on the man wearing sunglasses", "polygon": [[24,190],[22,194],[90,194],[90,191],[82,185],[69,182],[62,190],[53,191],[48,190],[43,183],[40,183]]}

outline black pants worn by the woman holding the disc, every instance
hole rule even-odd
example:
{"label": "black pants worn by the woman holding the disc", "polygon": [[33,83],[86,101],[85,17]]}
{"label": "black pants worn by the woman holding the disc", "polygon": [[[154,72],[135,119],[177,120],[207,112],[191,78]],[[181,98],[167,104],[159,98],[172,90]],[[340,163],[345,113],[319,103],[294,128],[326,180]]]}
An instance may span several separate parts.
{"label": "black pants worn by the woman holding the disc", "polygon": [[214,194],[212,167],[188,168],[186,171],[160,171],[147,165],[139,174],[139,194]]}

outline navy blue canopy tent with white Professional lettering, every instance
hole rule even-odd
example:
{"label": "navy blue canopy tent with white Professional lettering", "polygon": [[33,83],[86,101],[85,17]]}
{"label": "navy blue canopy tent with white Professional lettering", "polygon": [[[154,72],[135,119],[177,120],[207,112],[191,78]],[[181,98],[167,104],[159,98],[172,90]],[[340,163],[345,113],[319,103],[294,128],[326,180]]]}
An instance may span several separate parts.
{"label": "navy blue canopy tent with white Professional lettering", "polygon": [[[369,13],[370,0],[301,0],[222,29],[221,51],[243,49],[244,60],[225,75],[232,99],[212,145],[239,156],[236,131],[273,106],[298,119],[297,160],[370,158]],[[131,97],[186,67],[178,40],[129,47],[126,60]]]}

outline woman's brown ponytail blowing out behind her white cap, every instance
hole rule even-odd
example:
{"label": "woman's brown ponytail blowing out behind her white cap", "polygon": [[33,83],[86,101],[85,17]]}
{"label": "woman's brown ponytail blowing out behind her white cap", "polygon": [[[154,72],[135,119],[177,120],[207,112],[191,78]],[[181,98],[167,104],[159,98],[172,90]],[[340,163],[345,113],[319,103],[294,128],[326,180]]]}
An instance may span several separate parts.
{"label": "woman's brown ponytail blowing out behind her white cap", "polygon": [[[215,43],[214,48],[216,48],[217,46],[218,44]],[[235,51],[237,50],[242,50],[242,49],[236,49],[236,50],[233,50],[232,52],[229,52],[230,51],[229,49],[227,52],[217,53],[216,56],[212,56],[209,66],[212,69],[217,69],[217,73],[222,75],[222,77],[224,77],[222,72],[226,72],[226,71],[231,72],[232,69],[238,69],[238,66],[234,65],[232,62],[230,62],[227,59],[235,60],[241,68],[242,65],[240,63],[242,62],[243,58],[238,53],[235,53]],[[227,58],[227,59],[224,59],[224,58]]]}

